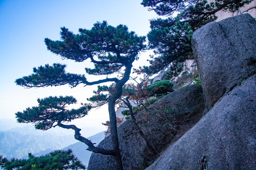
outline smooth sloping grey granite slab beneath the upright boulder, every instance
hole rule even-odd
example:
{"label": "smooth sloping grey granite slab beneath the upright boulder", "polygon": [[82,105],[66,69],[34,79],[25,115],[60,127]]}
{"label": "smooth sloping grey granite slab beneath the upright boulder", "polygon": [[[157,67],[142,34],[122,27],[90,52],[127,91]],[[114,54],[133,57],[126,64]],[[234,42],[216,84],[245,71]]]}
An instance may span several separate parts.
{"label": "smooth sloping grey granite slab beneath the upright boulder", "polygon": [[256,170],[256,76],[223,96],[146,170]]}

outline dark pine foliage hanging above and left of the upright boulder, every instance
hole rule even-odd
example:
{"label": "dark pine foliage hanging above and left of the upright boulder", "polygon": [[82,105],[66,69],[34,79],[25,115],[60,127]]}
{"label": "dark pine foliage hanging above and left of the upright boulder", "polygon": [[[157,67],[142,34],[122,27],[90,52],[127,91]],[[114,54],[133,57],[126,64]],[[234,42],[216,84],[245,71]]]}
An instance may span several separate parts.
{"label": "dark pine foliage hanging above and left of the upright boulder", "polygon": [[[171,64],[193,59],[191,38],[193,31],[214,21],[219,10],[236,11],[252,0],[143,0],[142,5],[154,10],[159,16],[150,20],[151,31],[147,34],[149,48],[158,56],[145,67],[148,73],[156,73]],[[177,12],[176,17],[172,17]]]}

